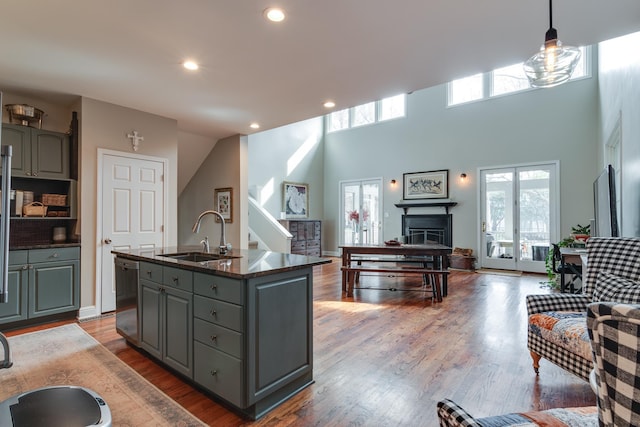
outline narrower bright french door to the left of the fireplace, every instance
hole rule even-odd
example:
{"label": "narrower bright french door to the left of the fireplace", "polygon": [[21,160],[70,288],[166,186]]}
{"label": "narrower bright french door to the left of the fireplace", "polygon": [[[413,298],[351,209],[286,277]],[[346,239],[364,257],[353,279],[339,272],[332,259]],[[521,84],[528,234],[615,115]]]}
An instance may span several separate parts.
{"label": "narrower bright french door to the left of the fireplace", "polygon": [[382,178],[340,182],[340,244],[378,244],[382,238]]}

